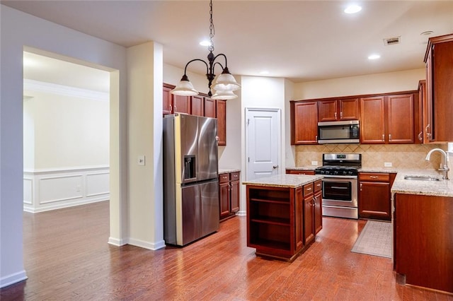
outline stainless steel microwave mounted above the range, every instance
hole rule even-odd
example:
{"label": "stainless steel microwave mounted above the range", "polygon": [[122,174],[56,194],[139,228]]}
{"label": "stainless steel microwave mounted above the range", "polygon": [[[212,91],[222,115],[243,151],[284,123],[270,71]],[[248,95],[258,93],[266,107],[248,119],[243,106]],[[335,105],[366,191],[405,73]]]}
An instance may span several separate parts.
{"label": "stainless steel microwave mounted above the range", "polygon": [[360,143],[359,121],[318,122],[318,143]]}

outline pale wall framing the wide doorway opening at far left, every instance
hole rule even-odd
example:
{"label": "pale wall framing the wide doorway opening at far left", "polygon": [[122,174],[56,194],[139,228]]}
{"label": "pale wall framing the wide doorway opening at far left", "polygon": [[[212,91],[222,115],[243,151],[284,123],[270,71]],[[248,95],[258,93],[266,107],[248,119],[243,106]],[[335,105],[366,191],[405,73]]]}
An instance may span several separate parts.
{"label": "pale wall framing the wide doorway opening at far left", "polygon": [[[0,287],[25,279],[23,266],[23,51],[55,54],[111,73],[110,236],[122,240],[127,215],[125,48],[0,6]],[[40,49],[40,50],[37,50]],[[121,209],[120,209],[121,208]]]}

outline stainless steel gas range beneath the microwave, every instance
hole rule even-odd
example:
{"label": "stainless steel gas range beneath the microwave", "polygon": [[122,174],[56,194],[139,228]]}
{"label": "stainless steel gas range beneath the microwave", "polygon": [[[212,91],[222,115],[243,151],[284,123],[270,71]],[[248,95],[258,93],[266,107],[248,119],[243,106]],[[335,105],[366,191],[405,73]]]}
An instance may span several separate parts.
{"label": "stainless steel gas range beneath the microwave", "polygon": [[323,216],[359,217],[357,208],[357,175],[362,167],[360,153],[324,153],[323,166],[316,175],[323,175]]}

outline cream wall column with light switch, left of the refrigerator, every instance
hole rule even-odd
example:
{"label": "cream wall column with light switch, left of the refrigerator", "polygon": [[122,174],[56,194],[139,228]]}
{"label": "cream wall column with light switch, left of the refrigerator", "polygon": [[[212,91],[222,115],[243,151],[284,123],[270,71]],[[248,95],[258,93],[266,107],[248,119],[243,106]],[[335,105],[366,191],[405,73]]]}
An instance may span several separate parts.
{"label": "cream wall column with light switch, left of the refrigerator", "polygon": [[[129,244],[165,247],[162,160],[162,46],[147,42],[127,49],[129,122]],[[138,165],[139,155],[145,165]]]}

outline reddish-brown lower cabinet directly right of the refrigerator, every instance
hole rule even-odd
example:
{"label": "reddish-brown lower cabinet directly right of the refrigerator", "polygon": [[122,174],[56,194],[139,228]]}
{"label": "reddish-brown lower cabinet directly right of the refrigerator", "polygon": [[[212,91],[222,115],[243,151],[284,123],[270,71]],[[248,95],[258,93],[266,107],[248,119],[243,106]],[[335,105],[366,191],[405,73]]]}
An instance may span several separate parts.
{"label": "reddish-brown lower cabinet directly right of the refrigerator", "polygon": [[227,172],[219,175],[220,221],[236,215],[239,211],[241,172]]}

